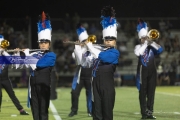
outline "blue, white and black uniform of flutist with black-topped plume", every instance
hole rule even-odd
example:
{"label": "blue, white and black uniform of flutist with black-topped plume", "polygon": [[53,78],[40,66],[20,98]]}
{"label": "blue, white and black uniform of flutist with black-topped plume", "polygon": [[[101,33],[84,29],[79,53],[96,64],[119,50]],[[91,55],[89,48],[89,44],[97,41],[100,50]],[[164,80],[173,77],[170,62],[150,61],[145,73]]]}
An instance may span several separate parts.
{"label": "blue, white and black uniform of flutist with black-topped plume", "polygon": [[114,72],[120,52],[115,48],[101,51],[94,48],[92,43],[88,43],[87,46],[95,58],[92,70],[93,116],[110,120],[113,118],[115,103]]}

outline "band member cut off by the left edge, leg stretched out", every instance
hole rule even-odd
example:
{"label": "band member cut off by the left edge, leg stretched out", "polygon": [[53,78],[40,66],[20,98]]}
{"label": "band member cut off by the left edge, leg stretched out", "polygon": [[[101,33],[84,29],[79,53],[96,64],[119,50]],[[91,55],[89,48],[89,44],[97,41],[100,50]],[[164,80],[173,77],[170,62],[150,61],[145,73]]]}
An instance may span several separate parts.
{"label": "band member cut off by the left edge, leg stretched out", "polygon": [[[4,40],[4,36],[0,35],[0,42]],[[6,58],[5,56],[10,56],[7,52],[4,51],[2,47],[0,47],[0,108],[1,108],[1,102],[2,102],[2,88],[4,88],[11,98],[12,102],[16,106],[16,108],[19,110],[20,115],[29,115],[22,107],[20,104],[18,98],[15,95],[15,92],[12,87],[11,80],[9,79],[8,76],[8,68],[9,68],[9,63],[6,63]]]}

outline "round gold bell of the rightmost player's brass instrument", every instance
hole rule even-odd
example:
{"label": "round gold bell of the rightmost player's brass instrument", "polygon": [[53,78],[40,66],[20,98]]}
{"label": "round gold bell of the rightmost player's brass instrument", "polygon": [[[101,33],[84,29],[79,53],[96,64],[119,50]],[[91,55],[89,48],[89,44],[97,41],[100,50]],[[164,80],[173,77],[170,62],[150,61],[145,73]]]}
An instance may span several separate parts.
{"label": "round gold bell of the rightmost player's brass instrument", "polygon": [[149,37],[150,40],[157,40],[159,38],[159,36],[160,36],[160,33],[156,29],[151,29],[148,32],[147,36]]}

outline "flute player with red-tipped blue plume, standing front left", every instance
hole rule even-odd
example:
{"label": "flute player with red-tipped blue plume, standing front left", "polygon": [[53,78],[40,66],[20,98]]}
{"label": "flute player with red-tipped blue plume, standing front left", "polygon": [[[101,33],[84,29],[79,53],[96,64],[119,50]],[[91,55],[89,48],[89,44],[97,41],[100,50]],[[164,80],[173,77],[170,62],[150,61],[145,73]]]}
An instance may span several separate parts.
{"label": "flute player with red-tipped blue plume, standing front left", "polygon": [[29,100],[34,120],[48,120],[48,108],[50,102],[51,71],[55,65],[56,55],[49,51],[51,44],[51,24],[48,14],[42,12],[38,22],[38,43],[40,49],[46,49],[29,54],[25,49],[26,57],[32,56],[37,59],[31,67],[29,83]]}

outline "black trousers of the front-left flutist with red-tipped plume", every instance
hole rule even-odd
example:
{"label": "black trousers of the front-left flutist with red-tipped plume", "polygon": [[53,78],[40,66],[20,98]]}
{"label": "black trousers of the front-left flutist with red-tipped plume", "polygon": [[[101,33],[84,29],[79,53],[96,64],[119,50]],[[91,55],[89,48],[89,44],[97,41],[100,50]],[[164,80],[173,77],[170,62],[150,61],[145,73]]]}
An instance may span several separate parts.
{"label": "black trousers of the front-left flutist with red-tipped plume", "polygon": [[34,120],[48,120],[50,86],[45,84],[31,85],[31,110]]}

